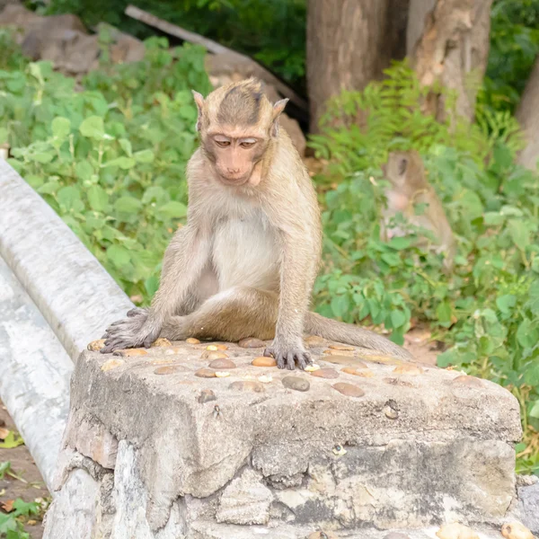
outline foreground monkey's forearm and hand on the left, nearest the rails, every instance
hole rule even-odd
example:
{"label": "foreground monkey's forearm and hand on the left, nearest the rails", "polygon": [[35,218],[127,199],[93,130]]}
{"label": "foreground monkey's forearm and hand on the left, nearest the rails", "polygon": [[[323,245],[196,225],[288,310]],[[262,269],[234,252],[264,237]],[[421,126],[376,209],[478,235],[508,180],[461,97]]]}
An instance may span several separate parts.
{"label": "foreground monkey's forearm and hand on the left, nearest the rails", "polygon": [[166,319],[188,299],[208,255],[208,234],[193,225],[181,228],[164,253],[161,283],[152,306],[147,311],[129,311],[128,318],[111,324],[102,353],[142,345],[148,348],[159,337]]}

